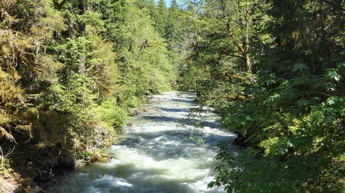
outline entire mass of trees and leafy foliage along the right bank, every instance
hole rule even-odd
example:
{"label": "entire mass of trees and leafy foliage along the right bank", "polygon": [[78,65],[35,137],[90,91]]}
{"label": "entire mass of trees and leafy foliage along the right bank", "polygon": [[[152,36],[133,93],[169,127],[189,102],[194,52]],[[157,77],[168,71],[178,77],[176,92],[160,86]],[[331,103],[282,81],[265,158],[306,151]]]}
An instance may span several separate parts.
{"label": "entire mass of trees and leafy foliage along the right bank", "polygon": [[238,156],[221,148],[210,187],[344,190],[343,4],[204,1],[194,10],[180,87],[214,106],[247,147]]}

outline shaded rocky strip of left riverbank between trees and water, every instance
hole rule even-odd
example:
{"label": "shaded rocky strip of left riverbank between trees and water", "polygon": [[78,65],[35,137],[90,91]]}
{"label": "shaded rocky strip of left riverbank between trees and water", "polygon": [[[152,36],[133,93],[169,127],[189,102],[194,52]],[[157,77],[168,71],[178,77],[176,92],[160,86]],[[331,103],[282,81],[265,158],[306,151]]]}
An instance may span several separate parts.
{"label": "shaded rocky strip of left riverbank between trees and water", "polygon": [[[132,115],[144,114],[150,98],[142,101],[142,105],[132,109]],[[131,122],[125,122],[130,125]],[[125,124],[125,125],[126,125]],[[0,168],[0,193],[40,193],[47,184],[66,176],[73,170],[94,162],[106,162],[115,155],[106,154],[101,149],[108,148],[119,141],[118,135],[122,128],[103,130],[95,127],[90,140],[78,137],[75,144],[68,145],[40,144],[41,146],[18,145],[4,159]],[[84,142],[84,143],[83,143]]]}

